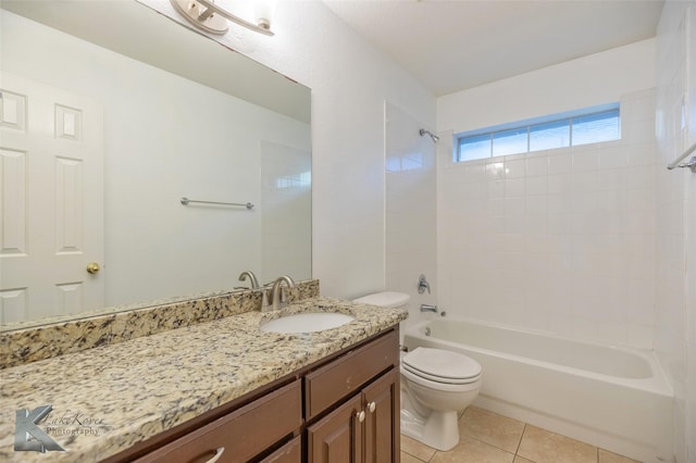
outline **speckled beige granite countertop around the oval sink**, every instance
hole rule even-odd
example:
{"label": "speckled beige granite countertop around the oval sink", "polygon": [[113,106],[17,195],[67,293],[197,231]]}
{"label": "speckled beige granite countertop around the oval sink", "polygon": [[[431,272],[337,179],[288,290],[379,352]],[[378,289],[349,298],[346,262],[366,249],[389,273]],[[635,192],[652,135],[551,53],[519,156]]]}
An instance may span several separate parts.
{"label": "speckled beige granite countertop around the oval sink", "polygon": [[[259,329],[282,314],[322,311],[356,320],[319,333]],[[406,317],[319,297],[1,370],[0,461],[100,461]],[[42,405],[52,411],[38,427],[66,451],[14,451],[16,412]]]}

